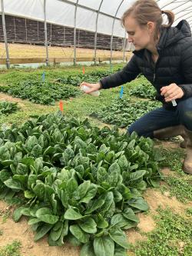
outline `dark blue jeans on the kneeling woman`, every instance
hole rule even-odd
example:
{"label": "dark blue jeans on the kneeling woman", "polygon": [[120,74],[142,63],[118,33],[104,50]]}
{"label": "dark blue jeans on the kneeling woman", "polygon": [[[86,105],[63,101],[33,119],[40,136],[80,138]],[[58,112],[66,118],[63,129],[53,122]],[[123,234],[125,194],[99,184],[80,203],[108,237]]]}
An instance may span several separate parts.
{"label": "dark blue jeans on the kneeling woman", "polygon": [[179,101],[174,109],[167,110],[162,107],[147,113],[127,131],[129,134],[136,131],[139,136],[154,138],[154,131],[174,125],[184,125],[192,131],[192,97]]}

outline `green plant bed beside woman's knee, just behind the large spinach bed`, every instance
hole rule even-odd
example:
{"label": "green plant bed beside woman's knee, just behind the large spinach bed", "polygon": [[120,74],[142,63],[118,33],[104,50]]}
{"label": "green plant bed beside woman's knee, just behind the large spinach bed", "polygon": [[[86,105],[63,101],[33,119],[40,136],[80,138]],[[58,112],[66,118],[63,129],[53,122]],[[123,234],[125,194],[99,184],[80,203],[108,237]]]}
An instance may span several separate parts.
{"label": "green plant bed beside woman's knee, just behind the large spinach bed", "polygon": [[98,109],[98,111],[91,113],[90,116],[98,118],[104,123],[124,128],[147,112],[160,107],[161,103],[157,101],[131,101],[129,98],[118,98],[108,107]]}

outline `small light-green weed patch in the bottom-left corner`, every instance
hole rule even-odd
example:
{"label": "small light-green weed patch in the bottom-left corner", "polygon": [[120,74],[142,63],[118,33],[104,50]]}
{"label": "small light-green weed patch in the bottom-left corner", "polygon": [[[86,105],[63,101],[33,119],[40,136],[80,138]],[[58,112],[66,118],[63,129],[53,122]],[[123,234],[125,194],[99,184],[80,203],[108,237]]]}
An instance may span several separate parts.
{"label": "small light-green weed patch in the bottom-left corner", "polygon": [[20,248],[21,248],[20,241],[13,241],[12,244],[7,244],[4,247],[0,247],[0,255],[1,256],[21,256]]}

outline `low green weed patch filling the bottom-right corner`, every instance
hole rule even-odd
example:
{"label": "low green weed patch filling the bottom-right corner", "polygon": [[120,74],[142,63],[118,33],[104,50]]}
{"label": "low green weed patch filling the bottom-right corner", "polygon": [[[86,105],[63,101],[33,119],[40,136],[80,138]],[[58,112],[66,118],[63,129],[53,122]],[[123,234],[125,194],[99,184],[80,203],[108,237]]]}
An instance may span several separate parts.
{"label": "low green weed patch filling the bottom-right corner", "polygon": [[170,208],[158,208],[157,213],[157,228],[145,234],[147,241],[132,245],[131,251],[137,256],[190,256],[192,220]]}

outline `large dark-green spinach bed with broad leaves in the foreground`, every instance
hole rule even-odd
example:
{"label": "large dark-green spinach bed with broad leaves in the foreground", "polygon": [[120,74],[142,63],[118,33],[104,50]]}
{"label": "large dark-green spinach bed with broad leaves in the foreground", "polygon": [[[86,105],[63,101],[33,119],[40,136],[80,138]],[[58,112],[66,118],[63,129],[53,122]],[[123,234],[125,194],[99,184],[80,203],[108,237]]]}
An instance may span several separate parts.
{"label": "large dark-green spinach bed with broad leaves in the foreground", "polygon": [[161,176],[150,138],[42,115],[0,132],[0,198],[25,195],[35,241],[82,245],[81,256],[126,255],[124,230],[147,211],[141,192]]}

